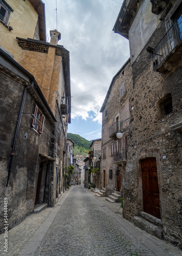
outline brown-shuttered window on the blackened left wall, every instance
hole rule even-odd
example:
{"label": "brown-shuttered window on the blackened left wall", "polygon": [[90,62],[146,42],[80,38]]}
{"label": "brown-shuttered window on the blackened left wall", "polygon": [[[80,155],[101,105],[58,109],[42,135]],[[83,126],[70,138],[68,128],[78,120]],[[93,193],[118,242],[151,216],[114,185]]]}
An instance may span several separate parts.
{"label": "brown-shuttered window on the blackened left wall", "polygon": [[42,131],[43,131],[44,119],[45,119],[44,115],[38,109],[38,106],[35,105],[35,110],[34,110],[33,120],[32,120],[32,125],[31,126],[39,134],[41,134]]}

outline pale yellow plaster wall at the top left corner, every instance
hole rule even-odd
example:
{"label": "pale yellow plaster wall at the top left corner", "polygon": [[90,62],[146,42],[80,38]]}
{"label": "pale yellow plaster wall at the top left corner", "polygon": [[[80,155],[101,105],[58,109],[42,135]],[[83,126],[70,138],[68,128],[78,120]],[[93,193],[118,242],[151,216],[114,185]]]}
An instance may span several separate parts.
{"label": "pale yellow plaster wall at the top left corner", "polygon": [[33,38],[37,25],[38,14],[29,2],[22,0],[6,0],[13,8],[9,17],[10,26],[13,30],[9,31],[0,23],[0,45],[14,55],[14,60],[19,62],[21,48],[18,46],[17,37]]}

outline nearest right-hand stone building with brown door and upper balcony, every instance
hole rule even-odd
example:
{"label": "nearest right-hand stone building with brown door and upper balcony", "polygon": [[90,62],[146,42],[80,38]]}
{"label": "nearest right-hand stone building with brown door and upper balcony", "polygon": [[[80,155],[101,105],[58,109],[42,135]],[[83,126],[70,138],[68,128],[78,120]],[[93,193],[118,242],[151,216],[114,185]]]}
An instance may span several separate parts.
{"label": "nearest right-hand stone building with brown door and upper balcony", "polygon": [[182,1],[126,0],[132,89],[123,216],[182,249]]}

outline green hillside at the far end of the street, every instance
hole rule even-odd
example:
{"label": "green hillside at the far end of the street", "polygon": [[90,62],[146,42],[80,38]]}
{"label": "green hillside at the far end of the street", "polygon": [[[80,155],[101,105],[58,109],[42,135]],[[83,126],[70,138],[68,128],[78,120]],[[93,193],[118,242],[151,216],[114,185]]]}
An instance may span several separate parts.
{"label": "green hillside at the far end of the street", "polygon": [[67,139],[71,139],[74,141],[74,155],[81,154],[82,156],[86,157],[88,155],[88,151],[90,150],[90,144],[92,141],[88,141],[81,137],[80,135],[67,133]]}

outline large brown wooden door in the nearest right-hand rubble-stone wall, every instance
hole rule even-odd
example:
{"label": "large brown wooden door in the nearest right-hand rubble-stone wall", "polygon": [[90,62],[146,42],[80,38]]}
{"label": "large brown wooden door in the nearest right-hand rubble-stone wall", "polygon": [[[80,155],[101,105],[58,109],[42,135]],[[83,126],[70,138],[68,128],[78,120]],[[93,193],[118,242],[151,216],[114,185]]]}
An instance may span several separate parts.
{"label": "large brown wooden door in the nearest right-hand rubble-stone wall", "polygon": [[160,219],[160,195],[155,158],[142,160],[142,182],[144,211]]}

